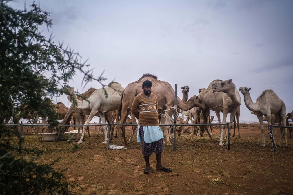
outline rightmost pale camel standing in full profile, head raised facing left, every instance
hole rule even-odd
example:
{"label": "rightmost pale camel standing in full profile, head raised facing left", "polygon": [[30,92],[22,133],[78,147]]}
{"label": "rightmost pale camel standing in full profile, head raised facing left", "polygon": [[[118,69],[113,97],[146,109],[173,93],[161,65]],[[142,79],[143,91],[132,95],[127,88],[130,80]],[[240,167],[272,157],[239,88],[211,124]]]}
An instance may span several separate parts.
{"label": "rightmost pale camel standing in full profile, head raised facing left", "polygon": [[[256,99],[255,103],[251,100],[249,90],[251,88],[247,87],[240,87],[239,91],[244,96],[244,102],[246,107],[256,113],[257,118],[260,122],[260,129],[262,132],[263,143],[261,146],[265,146],[265,130],[263,128],[263,116],[267,118],[268,125],[272,124],[272,117],[271,115],[274,114],[277,118],[278,124],[281,125],[286,124],[286,106],[285,103],[277,96],[273,90],[265,90],[263,93]],[[287,128],[283,129],[280,128],[280,142],[279,146],[281,145],[282,141],[282,132],[285,134],[285,146],[287,147]],[[275,144],[275,143],[274,143]]]}

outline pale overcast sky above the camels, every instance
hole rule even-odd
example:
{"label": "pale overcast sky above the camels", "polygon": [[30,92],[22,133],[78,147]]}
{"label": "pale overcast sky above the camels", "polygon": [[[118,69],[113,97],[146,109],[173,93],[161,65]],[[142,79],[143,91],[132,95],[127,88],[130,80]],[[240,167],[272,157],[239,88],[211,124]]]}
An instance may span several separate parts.
{"label": "pale overcast sky above the camels", "polygon": [[[29,9],[32,1],[10,2]],[[152,73],[190,87],[189,97],[214,79],[251,87],[255,102],[265,89],[293,110],[293,1],[62,1],[40,0],[52,28],[43,33],[78,51],[98,76],[123,87]],[[70,85],[85,92],[76,75]],[[241,119],[257,121],[242,100]],[[66,97],[58,101],[70,106]],[[212,115],[215,115],[212,111]]]}

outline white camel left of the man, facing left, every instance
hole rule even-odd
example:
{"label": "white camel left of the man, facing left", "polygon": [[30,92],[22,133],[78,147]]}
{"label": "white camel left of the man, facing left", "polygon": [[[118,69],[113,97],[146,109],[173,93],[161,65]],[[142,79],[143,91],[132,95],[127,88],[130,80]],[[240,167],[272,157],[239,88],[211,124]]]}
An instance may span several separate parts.
{"label": "white camel left of the man, facing left", "polygon": [[[111,82],[109,87],[97,89],[94,91],[91,96],[84,100],[80,101],[74,95],[74,87],[69,87],[67,93],[67,99],[72,103],[76,103],[76,107],[81,109],[85,114],[89,113],[88,119],[84,123],[84,125],[88,125],[88,123],[92,120],[92,118],[98,113],[102,120],[102,123],[105,124],[105,116],[104,113],[114,111],[120,108],[121,105],[121,93],[124,88],[117,82]],[[106,96],[107,94],[107,96]],[[84,139],[86,127],[84,127],[82,131],[82,135],[77,144],[81,144]],[[104,144],[107,143],[107,129],[103,126],[103,132],[105,134]],[[127,141],[125,139],[125,132],[123,132],[125,144]]]}

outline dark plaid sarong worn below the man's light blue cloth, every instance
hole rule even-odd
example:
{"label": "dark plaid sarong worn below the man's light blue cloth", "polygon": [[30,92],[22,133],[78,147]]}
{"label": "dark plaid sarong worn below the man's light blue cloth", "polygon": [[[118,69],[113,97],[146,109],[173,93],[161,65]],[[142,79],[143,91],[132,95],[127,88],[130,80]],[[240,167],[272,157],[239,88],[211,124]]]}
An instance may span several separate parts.
{"label": "dark plaid sarong worn below the man's light blue cloth", "polygon": [[144,130],[142,126],[139,127],[139,136],[140,136],[140,141],[142,143],[143,156],[151,156],[152,153],[156,153],[156,154],[163,153],[163,150],[164,150],[163,138],[151,143],[144,142]]}

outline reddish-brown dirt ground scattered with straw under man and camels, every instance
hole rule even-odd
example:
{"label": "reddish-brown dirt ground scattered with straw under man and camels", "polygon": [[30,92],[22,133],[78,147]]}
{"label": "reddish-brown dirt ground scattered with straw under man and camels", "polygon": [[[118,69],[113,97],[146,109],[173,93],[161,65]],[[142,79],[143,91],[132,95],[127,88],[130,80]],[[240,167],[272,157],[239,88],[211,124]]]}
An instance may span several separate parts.
{"label": "reddish-brown dirt ground scattered with straw under man and camels", "polygon": [[[107,151],[102,144],[105,137],[91,132],[75,153],[66,141],[44,142],[36,135],[25,136],[25,144],[47,149],[38,163],[62,157],[54,168],[68,168],[67,180],[76,184],[72,194],[292,194],[293,138],[287,139],[287,148],[273,153],[268,132],[266,147],[260,146],[260,133],[241,129],[241,139],[231,138],[230,151],[207,135],[191,141],[191,135],[181,134],[177,151],[164,144],[162,162],[173,171],[156,171],[153,154],[149,175],[143,173],[144,158],[136,139],[126,149]],[[278,134],[275,139],[279,140]],[[117,139],[111,144],[118,145]]]}

